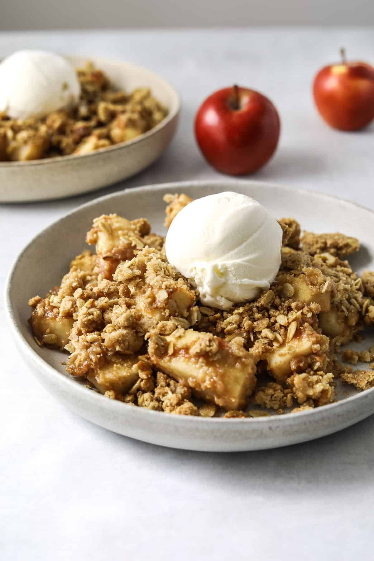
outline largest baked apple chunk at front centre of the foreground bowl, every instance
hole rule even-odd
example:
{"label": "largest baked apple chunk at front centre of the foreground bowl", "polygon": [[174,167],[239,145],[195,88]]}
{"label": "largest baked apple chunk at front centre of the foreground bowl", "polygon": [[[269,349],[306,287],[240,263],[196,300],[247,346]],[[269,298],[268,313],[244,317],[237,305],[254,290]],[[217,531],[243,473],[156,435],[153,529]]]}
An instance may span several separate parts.
{"label": "largest baked apple chunk at front centre of the foreground bowl", "polygon": [[192,329],[177,328],[170,335],[155,330],[148,351],[157,368],[227,411],[246,407],[256,385],[255,360],[240,337],[228,343]]}

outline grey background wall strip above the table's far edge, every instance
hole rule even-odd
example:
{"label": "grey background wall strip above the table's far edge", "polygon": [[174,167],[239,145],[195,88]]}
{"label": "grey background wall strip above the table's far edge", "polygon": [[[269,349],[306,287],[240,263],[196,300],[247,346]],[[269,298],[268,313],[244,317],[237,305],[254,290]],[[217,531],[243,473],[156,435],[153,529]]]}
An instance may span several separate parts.
{"label": "grey background wall strip above the table's far edge", "polygon": [[0,0],[0,30],[373,24],[374,0]]}

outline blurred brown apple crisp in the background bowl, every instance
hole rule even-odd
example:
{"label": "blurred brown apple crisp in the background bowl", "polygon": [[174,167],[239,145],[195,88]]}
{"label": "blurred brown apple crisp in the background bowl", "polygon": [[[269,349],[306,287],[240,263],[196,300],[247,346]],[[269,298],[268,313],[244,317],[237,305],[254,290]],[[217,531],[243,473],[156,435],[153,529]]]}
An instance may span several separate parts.
{"label": "blurred brown apple crisp in the background bowl", "polygon": [[0,113],[0,162],[88,154],[132,140],[167,116],[149,88],[116,90],[91,63],[77,75],[81,96],[75,108],[24,120]]}

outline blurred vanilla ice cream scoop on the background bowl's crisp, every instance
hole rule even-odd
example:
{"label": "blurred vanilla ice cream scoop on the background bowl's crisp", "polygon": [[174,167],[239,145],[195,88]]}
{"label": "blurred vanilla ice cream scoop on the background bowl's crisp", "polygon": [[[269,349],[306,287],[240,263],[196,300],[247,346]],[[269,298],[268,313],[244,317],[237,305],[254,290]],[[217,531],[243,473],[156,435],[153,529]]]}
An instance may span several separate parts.
{"label": "blurred vanilla ice cream scoop on the background bowl's crisp", "polygon": [[13,119],[44,117],[78,103],[70,62],[44,50],[19,50],[0,63],[0,111]]}

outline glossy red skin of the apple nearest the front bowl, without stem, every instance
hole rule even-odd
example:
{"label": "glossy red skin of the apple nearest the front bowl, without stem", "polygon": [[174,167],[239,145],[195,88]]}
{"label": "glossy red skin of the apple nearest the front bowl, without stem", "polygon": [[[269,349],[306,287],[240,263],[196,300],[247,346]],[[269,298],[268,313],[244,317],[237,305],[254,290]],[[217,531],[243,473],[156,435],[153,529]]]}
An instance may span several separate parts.
{"label": "glossy red skin of the apple nearest the front bowl, without stem", "polygon": [[195,118],[195,136],[202,154],[218,171],[246,175],[260,169],[274,154],[280,120],[264,95],[238,88],[239,109],[233,108],[234,90],[215,91],[202,103]]}

